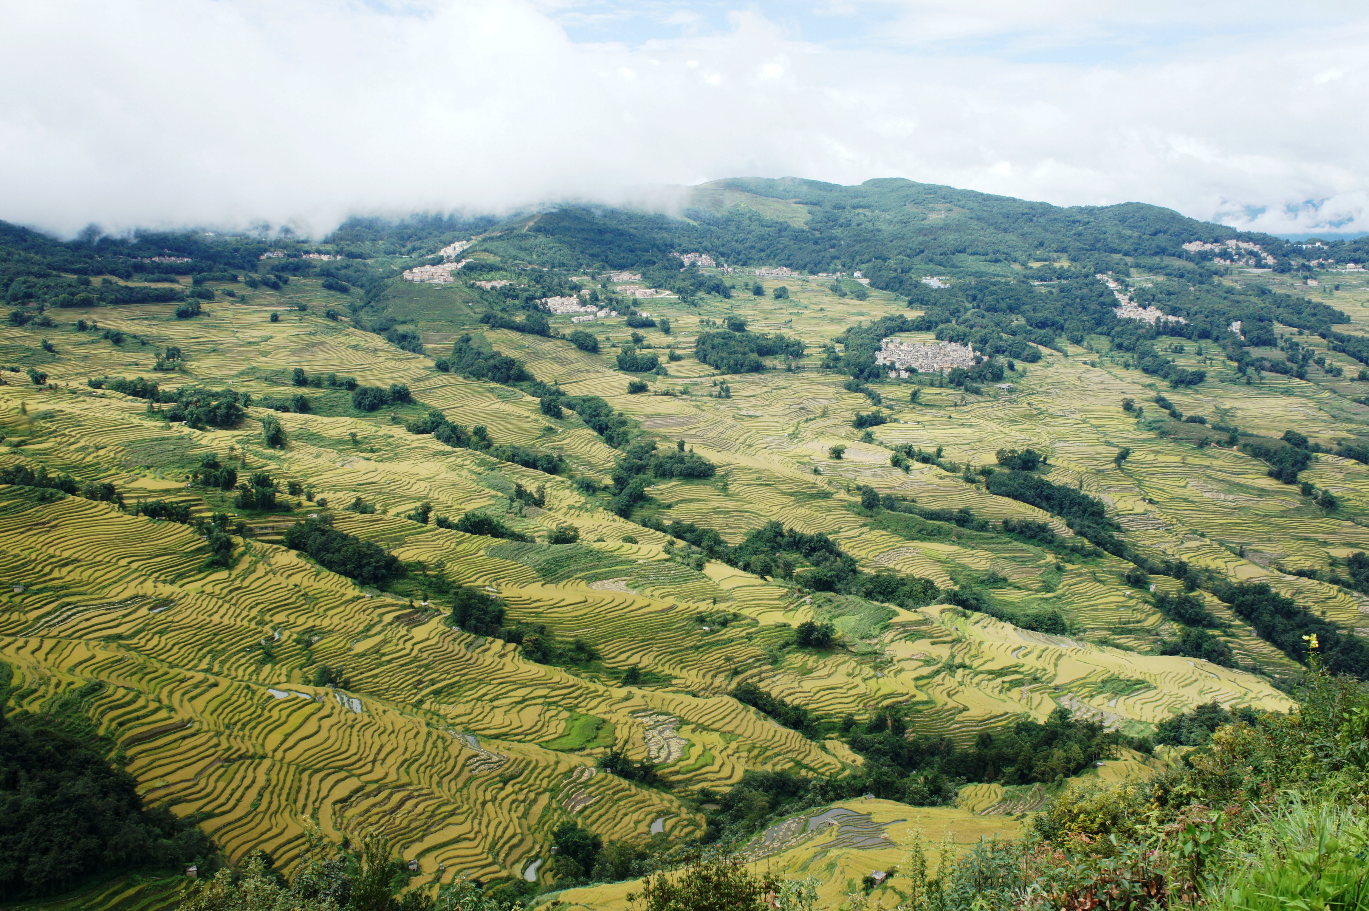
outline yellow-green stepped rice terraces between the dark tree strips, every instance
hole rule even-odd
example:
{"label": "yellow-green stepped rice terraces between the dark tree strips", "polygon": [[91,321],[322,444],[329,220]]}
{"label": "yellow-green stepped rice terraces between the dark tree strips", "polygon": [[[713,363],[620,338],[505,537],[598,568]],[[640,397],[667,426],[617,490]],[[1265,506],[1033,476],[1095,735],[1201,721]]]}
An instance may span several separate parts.
{"label": "yellow-green stepped rice terraces between the dark tree strips", "polygon": [[[479,246],[474,254],[482,256]],[[852,420],[871,401],[845,376],[817,369],[819,352],[849,327],[908,313],[905,300],[875,289],[856,300],[813,276],[745,276],[747,290],[756,282],[764,297],[638,302],[672,327],[669,335],[643,330],[648,350],[683,356],[665,361],[668,373],[646,375],[645,394],[628,394],[630,378],[616,369],[632,331],[622,316],[583,327],[600,339],[600,352],[589,353],[564,338],[481,324],[483,298],[461,282],[393,290],[390,312],[412,320],[423,353],[346,317],[327,319],[340,295],[309,278],[216,300],[194,319],[148,304],[52,309],[52,326],[0,327],[0,360],[47,373],[41,386],[22,372],[3,375],[0,468],[44,466],[81,486],[108,481],[126,506],[0,487],[0,659],[15,670],[12,699],[38,707],[85,687],[89,714],[120,744],[146,799],[200,814],[231,858],[259,847],[289,858],[316,822],[335,837],[383,832],[424,878],[535,878],[561,822],[605,840],[658,830],[689,839],[702,832],[700,788],[726,788],[749,769],[831,776],[860,765],[843,741],[805,739],[732,699],[739,683],[827,718],[908,706],[910,732],[961,744],[1061,706],[1138,736],[1212,700],[1291,707],[1269,676],[1296,665],[1212,595],[1198,592],[1242,669],[1157,654],[1175,625],[1125,583],[1131,564],[1120,558],[861,507],[860,488],[872,487],[925,510],[1031,520],[1077,540],[1060,517],[936,464],[893,466],[894,446],[941,447],[961,465],[991,465],[999,449],[1045,453],[1043,476],[1098,497],[1139,551],[1232,581],[1266,581],[1343,626],[1369,626],[1359,595],[1291,575],[1369,550],[1369,468],[1329,454],[1312,462],[1302,477],[1335,494],[1339,505],[1328,512],[1269,477],[1264,462],[1157,432],[1154,421],[1121,408],[1131,398],[1162,414],[1150,405],[1162,391],[1186,414],[1331,445],[1357,439],[1369,419],[1347,379],[1266,373],[1246,384],[1220,350],[1190,346],[1177,362],[1201,365],[1209,379],[1170,390],[1128,368],[1098,336],[1042,349],[1039,362],[1010,373],[1010,390],[932,386],[910,401],[912,386],[880,384],[890,421],[862,439]],[[789,297],[775,297],[780,286]],[[1362,282],[1331,297],[1351,313],[1351,331],[1369,326],[1365,300]],[[122,339],[77,331],[77,317],[92,315]],[[693,350],[698,332],[728,316],[745,317],[754,332],[797,336],[809,356],[794,371],[720,376]],[[582,328],[570,317],[553,317],[552,327]],[[653,514],[664,521],[713,528],[734,544],[769,521],[823,532],[868,572],[919,576],[942,590],[987,585],[1001,605],[1058,610],[1071,632],[1020,629],[943,603],[906,610],[804,592],[705,561],[575,483],[606,484],[619,451],[574,412],[549,416],[526,391],[435,369],[465,332],[570,395],[602,397],[663,446],[682,440],[711,460],[713,477],[650,488]],[[1306,343],[1325,352],[1320,338]],[[168,346],[182,352],[181,368],[155,372]],[[296,368],[367,386],[404,383],[413,402],[361,412],[349,393],[296,387]],[[235,428],[196,430],[168,423],[141,398],[88,384],[134,376],[163,388],[231,388],[257,404],[303,393],[311,408],[253,405]],[[567,471],[548,475],[409,432],[405,420],[428,408],[485,425],[500,445],[559,453]],[[257,419],[267,416],[282,424],[283,447],[264,440]],[[842,458],[830,457],[834,446],[846,447]],[[1114,460],[1123,447],[1129,456]],[[296,484],[301,492],[282,494],[274,512],[235,509],[230,492],[190,483],[211,454],[240,477],[267,472],[279,490]],[[541,505],[519,495],[538,487]],[[340,509],[359,499],[374,510]],[[152,501],[183,503],[193,516],[238,513],[233,518],[251,533],[234,536],[231,569],[207,568],[205,542],[192,527],[129,509]],[[408,517],[420,503],[452,520],[497,517],[528,540],[420,524]],[[404,561],[405,583],[359,584],[282,546],[294,521],[322,512]],[[546,543],[564,525],[575,527],[578,542]],[[1160,594],[1183,591],[1175,579],[1153,579]],[[537,663],[517,646],[455,628],[442,594],[452,585],[497,595],[511,620],[580,640],[594,659]],[[834,624],[842,647],[787,648],[791,628],[809,620]],[[323,665],[345,680],[318,683]],[[641,684],[622,683],[628,669],[641,672]],[[671,787],[600,770],[611,747],[656,762]],[[847,802],[828,817],[789,821],[752,849],[776,871],[819,875],[835,897],[865,867],[906,855],[913,829],[932,841],[943,828],[958,843],[1012,834],[1013,815],[1039,799],[976,785],[954,810]],[[613,907],[624,890],[596,886],[561,899]]]}

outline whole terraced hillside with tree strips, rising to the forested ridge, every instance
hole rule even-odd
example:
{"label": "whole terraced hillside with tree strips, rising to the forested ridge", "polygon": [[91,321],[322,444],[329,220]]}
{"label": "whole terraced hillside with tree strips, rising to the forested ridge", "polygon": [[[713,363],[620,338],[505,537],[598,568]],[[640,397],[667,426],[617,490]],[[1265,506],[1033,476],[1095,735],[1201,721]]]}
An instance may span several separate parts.
{"label": "whole terraced hillside with tree strips, rising to the forested ridge", "polygon": [[[99,684],[86,711],[146,799],[233,859],[289,859],[312,821],[383,832],[423,881],[552,886],[534,864],[565,822],[680,843],[717,834],[708,795],[747,771],[861,780],[883,759],[856,724],[969,751],[1062,707],[1143,740],[1214,700],[1287,711],[1305,631],[1358,668],[1362,274],[1214,264],[1183,243],[1233,233],[1151,207],[693,194],[683,217],[352,222],[322,243],[7,228],[15,704]],[[401,278],[444,263],[449,282]],[[1118,317],[1095,271],[1186,321]],[[979,362],[890,378],[886,335]],[[701,360],[761,349],[761,369]],[[304,553],[319,516],[392,569]],[[758,550],[772,523],[789,543]],[[453,622],[463,588],[504,618]],[[795,640],[805,622],[835,644]],[[664,784],[604,770],[611,748]],[[898,806],[879,810],[921,811]]]}

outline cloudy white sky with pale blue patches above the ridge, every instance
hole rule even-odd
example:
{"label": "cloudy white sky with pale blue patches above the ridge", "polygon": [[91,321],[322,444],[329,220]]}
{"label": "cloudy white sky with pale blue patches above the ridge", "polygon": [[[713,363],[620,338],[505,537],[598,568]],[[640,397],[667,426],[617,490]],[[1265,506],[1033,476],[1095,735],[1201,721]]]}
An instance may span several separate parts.
{"label": "cloudy white sky with pale blue patches above the ridge", "polygon": [[0,0],[0,219],[905,176],[1369,230],[1362,0]]}

